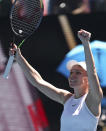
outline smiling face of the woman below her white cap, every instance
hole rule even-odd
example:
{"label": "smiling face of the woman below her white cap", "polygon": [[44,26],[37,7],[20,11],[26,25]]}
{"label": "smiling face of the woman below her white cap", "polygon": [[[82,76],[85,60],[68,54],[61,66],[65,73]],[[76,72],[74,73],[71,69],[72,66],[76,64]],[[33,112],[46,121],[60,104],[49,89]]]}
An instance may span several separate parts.
{"label": "smiling face of the woman below her white cap", "polygon": [[68,78],[71,88],[86,86],[88,82],[87,72],[79,65],[72,67]]}

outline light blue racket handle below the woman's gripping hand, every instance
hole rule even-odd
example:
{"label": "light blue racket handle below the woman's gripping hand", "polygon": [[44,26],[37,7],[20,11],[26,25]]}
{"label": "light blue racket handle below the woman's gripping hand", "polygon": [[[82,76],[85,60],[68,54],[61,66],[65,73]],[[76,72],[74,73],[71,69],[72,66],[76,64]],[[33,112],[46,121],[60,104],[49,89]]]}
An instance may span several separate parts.
{"label": "light blue racket handle below the woman's gripping hand", "polygon": [[8,74],[10,73],[13,61],[14,61],[14,56],[12,55],[12,56],[9,57],[6,69],[5,69],[4,74],[3,74],[3,78],[8,79]]}

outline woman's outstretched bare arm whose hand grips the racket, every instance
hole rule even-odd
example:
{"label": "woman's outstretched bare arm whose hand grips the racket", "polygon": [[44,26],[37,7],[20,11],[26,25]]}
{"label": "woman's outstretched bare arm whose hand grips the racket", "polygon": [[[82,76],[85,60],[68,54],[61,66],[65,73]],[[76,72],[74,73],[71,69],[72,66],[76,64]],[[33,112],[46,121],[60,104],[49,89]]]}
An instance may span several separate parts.
{"label": "woman's outstretched bare arm whose hand grips the racket", "polygon": [[47,81],[43,80],[41,75],[26,61],[26,59],[22,56],[19,49],[17,49],[16,45],[14,45],[14,48],[10,50],[10,55],[14,54],[14,51],[16,51],[16,61],[21,66],[26,78],[29,80],[29,82],[36,87],[39,91],[41,91],[43,94],[48,96],[50,99],[59,102],[61,104],[64,104],[66,99],[70,97],[71,93],[56,88],[52,84],[48,83]]}

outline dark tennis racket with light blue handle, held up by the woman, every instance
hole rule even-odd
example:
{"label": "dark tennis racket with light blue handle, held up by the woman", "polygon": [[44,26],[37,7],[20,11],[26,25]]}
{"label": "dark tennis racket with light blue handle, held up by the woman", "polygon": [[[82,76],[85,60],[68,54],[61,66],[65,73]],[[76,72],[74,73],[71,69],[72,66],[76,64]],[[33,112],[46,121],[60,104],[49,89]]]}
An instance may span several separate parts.
{"label": "dark tennis racket with light blue handle, held up by the woman", "polygon": [[[18,48],[39,27],[43,17],[43,9],[42,0],[15,0],[10,13],[10,23],[15,36],[22,39]],[[13,61],[14,55],[9,57],[3,74],[4,78],[8,78]]]}

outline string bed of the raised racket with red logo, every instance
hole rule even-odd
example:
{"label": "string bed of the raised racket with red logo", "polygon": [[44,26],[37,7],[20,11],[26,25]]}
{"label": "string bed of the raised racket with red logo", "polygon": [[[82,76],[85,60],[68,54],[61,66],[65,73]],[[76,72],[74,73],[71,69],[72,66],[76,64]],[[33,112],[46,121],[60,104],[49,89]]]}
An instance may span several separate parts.
{"label": "string bed of the raised racket with red logo", "polygon": [[42,18],[39,0],[17,0],[10,16],[15,34],[26,37],[35,31]]}

